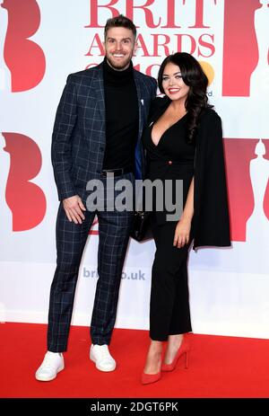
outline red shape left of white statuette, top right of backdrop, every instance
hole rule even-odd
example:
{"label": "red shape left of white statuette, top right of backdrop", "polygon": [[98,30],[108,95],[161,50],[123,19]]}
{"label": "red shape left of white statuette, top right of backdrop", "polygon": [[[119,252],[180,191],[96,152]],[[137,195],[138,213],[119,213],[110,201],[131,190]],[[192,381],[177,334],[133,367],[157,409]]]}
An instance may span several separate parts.
{"label": "red shape left of white statuette, top right of backdrop", "polygon": [[258,49],[254,13],[259,0],[226,0],[224,11],[222,95],[249,96]]}

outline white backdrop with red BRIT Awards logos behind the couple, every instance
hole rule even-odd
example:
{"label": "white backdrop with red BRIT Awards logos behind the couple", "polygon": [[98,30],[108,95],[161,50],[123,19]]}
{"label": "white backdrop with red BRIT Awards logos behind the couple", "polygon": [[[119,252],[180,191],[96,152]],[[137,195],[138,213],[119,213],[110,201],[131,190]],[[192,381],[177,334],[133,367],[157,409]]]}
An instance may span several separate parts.
{"label": "white backdrop with red BRIT Awards logos behind the couple", "polygon": [[[232,248],[191,251],[195,333],[269,337],[269,0],[0,0],[0,321],[46,323],[58,200],[50,162],[68,74],[103,59],[103,30],[134,20],[135,68],[154,77],[186,51],[221,115]],[[90,232],[90,230],[89,230]],[[89,324],[98,224],[83,255],[74,324]],[[154,243],[130,241],[117,327],[148,329]]]}

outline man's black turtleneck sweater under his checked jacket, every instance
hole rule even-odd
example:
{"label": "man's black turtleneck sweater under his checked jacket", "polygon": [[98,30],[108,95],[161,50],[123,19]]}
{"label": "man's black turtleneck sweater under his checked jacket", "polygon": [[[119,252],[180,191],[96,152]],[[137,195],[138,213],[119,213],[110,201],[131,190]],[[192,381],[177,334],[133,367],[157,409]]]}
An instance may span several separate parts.
{"label": "man's black turtleneck sweater under his checked jacket", "polygon": [[107,137],[103,169],[133,172],[139,115],[132,62],[124,71],[116,71],[105,58],[103,76]]}

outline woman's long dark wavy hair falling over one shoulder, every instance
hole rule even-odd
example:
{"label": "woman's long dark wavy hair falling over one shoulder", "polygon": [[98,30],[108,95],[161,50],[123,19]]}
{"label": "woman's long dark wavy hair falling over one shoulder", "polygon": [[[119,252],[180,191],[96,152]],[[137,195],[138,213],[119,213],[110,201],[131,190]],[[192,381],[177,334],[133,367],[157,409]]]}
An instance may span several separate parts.
{"label": "woman's long dark wavy hair falling over one shoulder", "polygon": [[187,52],[177,52],[165,58],[161,64],[158,74],[158,85],[161,93],[164,93],[162,88],[162,76],[165,66],[172,63],[179,66],[182,79],[187,86],[189,92],[185,107],[188,113],[187,117],[187,139],[189,143],[195,142],[195,133],[199,123],[199,116],[205,108],[212,108],[212,105],[207,103],[206,88],[208,85],[207,76],[204,74],[202,66],[199,62]]}

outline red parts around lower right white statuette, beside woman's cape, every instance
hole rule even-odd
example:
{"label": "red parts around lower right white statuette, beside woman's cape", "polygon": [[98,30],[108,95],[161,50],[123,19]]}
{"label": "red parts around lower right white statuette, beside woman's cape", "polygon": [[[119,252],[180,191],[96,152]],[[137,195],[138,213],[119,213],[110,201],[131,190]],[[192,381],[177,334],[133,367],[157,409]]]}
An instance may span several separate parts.
{"label": "red parts around lower right white statuette, beside woman's cape", "polygon": [[[225,138],[224,150],[227,168],[228,194],[230,204],[230,227],[232,241],[246,241],[247,219],[254,210],[254,197],[249,174],[249,164],[256,158],[258,139]],[[264,140],[266,159],[269,158],[269,140]],[[269,219],[269,186],[265,191],[265,215]]]}

